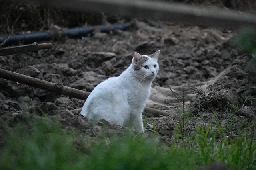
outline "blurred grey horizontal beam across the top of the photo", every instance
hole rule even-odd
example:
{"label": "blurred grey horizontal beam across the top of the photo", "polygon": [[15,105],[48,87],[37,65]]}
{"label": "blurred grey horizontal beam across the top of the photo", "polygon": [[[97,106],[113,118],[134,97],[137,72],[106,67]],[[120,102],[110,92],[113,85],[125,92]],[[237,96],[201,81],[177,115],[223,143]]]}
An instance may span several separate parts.
{"label": "blurred grey horizontal beam across the top of the photo", "polygon": [[[136,18],[190,23],[193,25],[237,29],[256,28],[256,15],[220,8],[149,0],[22,0],[69,10],[106,12]],[[19,0],[20,2],[20,0]]]}

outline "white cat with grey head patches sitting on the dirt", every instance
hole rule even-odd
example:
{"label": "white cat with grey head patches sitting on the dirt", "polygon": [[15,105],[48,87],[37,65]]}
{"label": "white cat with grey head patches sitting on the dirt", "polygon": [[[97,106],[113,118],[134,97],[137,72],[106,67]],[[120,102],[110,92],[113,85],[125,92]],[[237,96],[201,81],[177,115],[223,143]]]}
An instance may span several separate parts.
{"label": "white cat with grey head patches sitting on the dirt", "polygon": [[132,64],[119,77],[98,84],[84,103],[81,114],[92,120],[105,119],[121,126],[143,131],[142,111],[150,86],[158,72],[158,55],[135,53]]}

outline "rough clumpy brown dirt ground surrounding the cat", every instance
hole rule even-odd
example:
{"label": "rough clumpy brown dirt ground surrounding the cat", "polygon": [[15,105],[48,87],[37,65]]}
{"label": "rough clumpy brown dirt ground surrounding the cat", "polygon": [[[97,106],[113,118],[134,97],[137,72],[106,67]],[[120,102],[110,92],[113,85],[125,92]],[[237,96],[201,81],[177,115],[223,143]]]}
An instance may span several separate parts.
{"label": "rough clumpy brown dirt ground surrounding the cat", "polygon": [[[252,127],[256,117],[256,76],[244,69],[252,55],[240,53],[233,45],[237,33],[134,21],[127,30],[94,31],[81,39],[50,41],[51,50],[0,57],[0,68],[90,92],[106,78],[120,75],[134,52],[149,55],[160,49],[159,75],[146,106],[170,115],[143,116],[144,127],[154,129],[171,143],[184,115],[184,135],[198,125],[212,123],[220,124],[233,138],[239,128]],[[102,123],[91,126],[80,115],[83,104],[83,100],[0,80],[0,117],[8,125],[33,114],[42,115],[40,108],[50,119],[58,119],[64,129],[76,129],[88,139],[97,139]],[[110,133],[124,129],[107,126]],[[2,147],[1,129],[0,140]]]}

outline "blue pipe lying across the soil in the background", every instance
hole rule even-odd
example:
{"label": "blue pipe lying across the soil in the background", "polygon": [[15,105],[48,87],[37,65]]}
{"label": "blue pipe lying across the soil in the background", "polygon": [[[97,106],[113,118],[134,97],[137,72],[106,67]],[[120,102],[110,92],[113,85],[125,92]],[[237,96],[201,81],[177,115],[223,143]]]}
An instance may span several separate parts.
{"label": "blue pipe lying across the soil in the background", "polygon": [[107,32],[112,29],[128,29],[131,26],[130,23],[123,24],[113,24],[110,26],[106,25],[98,25],[93,27],[80,27],[80,28],[71,28],[59,31],[58,33],[50,33],[50,32],[41,32],[41,33],[31,33],[31,34],[23,34],[23,35],[12,35],[2,36],[0,37],[0,43],[4,43],[4,45],[11,44],[20,44],[20,43],[32,43],[32,42],[40,42],[40,41],[49,41],[54,39],[55,37],[60,37],[66,35],[69,38],[80,38],[82,36],[88,35],[88,33],[92,32],[94,29],[100,29],[101,32]]}

